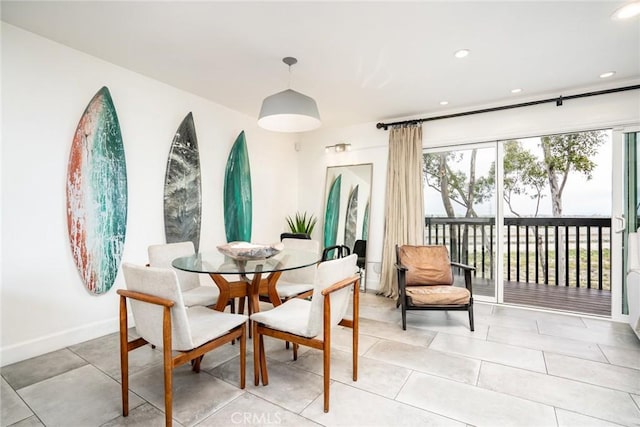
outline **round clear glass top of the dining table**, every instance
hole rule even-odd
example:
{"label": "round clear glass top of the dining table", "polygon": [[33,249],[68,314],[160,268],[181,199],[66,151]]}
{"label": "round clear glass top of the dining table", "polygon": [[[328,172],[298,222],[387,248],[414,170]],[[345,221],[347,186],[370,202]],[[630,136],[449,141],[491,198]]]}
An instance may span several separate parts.
{"label": "round clear glass top of the dining table", "polygon": [[277,255],[259,260],[235,260],[220,252],[201,252],[194,255],[176,258],[171,265],[179,270],[193,273],[209,274],[251,274],[258,266],[263,273],[295,270],[308,267],[320,261],[320,255],[299,249],[283,249]]}

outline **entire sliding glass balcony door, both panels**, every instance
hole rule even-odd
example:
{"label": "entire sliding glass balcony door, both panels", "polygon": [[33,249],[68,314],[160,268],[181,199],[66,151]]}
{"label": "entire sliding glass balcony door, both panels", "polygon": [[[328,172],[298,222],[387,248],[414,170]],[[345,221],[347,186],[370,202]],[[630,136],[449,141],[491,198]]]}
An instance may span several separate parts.
{"label": "entire sliding glass balcony door, both panels", "polygon": [[476,299],[611,315],[611,131],[433,148],[424,160],[425,244],[476,268]]}

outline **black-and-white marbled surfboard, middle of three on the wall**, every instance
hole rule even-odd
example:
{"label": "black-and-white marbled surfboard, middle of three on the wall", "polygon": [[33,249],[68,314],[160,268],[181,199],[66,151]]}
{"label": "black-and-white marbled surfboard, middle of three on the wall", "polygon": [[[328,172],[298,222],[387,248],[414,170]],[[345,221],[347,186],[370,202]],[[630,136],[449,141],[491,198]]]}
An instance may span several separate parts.
{"label": "black-and-white marbled surfboard, middle of three on the wall", "polygon": [[164,234],[167,243],[192,241],[198,252],[202,219],[200,155],[193,114],[182,120],[171,143],[164,178]]}

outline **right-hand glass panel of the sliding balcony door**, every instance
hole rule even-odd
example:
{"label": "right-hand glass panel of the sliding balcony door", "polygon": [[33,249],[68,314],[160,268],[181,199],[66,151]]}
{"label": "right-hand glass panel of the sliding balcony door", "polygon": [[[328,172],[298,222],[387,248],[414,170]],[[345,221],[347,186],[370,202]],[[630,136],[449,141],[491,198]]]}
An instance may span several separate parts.
{"label": "right-hand glass panel of the sliding balcony door", "polygon": [[611,131],[502,141],[504,302],[611,315]]}

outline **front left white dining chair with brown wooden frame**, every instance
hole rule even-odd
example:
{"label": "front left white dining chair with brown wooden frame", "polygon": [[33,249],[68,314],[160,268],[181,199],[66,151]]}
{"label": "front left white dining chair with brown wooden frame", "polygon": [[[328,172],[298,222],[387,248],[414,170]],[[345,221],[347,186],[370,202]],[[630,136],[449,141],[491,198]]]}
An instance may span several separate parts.
{"label": "front left white dining chair with brown wooden frame", "polygon": [[[186,307],[173,269],[124,263],[122,270],[126,289],[119,289],[117,293],[120,295],[123,416],[129,415],[129,352],[146,344],[162,348],[167,426],[173,419],[173,369],[191,362],[192,370],[200,372],[205,353],[236,339],[240,341],[240,388],[244,389],[247,316],[203,306]],[[140,336],[132,341],[128,340],[128,300]]]}

